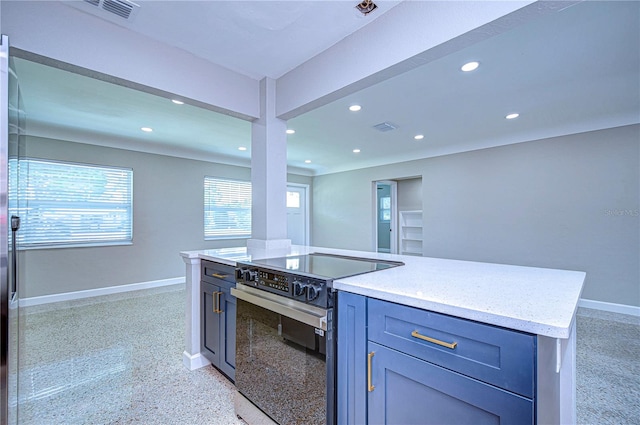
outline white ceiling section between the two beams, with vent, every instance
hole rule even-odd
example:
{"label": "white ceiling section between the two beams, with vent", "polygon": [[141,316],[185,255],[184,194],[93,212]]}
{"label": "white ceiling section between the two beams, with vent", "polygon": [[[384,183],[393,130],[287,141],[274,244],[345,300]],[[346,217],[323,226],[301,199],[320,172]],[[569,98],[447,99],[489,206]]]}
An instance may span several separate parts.
{"label": "white ceiling section between the two beams, with vent", "polygon": [[[137,1],[133,31],[252,78],[278,78],[400,1]],[[115,22],[115,21],[114,21]]]}

